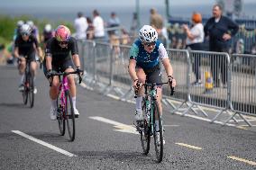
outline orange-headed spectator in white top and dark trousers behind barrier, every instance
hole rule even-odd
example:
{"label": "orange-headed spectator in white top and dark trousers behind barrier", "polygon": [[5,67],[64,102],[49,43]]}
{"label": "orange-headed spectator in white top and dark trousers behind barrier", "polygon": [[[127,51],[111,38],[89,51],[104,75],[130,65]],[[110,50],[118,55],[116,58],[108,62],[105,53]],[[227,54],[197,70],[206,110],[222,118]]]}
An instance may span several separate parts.
{"label": "orange-headed spectator in white top and dark trousers behind barrier", "polygon": [[[204,25],[202,24],[202,16],[200,13],[193,13],[192,15],[192,28],[189,29],[187,24],[184,24],[182,27],[187,34],[187,49],[192,50],[203,50],[202,43],[204,41],[205,32]],[[196,82],[193,85],[202,85],[201,81],[201,57],[194,57],[194,65],[192,66],[193,72],[196,75]]]}

